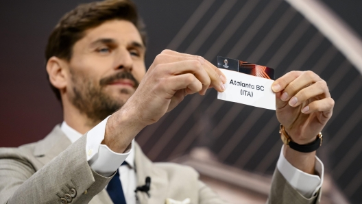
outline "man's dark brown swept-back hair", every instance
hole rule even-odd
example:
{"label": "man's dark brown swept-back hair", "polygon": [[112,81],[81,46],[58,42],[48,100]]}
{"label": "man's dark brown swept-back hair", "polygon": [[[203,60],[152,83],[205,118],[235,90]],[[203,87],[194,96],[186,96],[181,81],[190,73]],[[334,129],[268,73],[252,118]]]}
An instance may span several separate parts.
{"label": "man's dark brown swept-back hair", "polygon": [[[138,16],[136,5],[130,0],[106,0],[78,5],[60,18],[49,36],[45,59],[48,61],[52,56],[56,56],[64,60],[71,60],[75,42],[84,37],[87,29],[114,19],[133,23],[146,46],[145,25]],[[49,80],[49,76],[47,78]],[[49,84],[56,97],[61,101],[60,90],[54,87],[50,81]]]}

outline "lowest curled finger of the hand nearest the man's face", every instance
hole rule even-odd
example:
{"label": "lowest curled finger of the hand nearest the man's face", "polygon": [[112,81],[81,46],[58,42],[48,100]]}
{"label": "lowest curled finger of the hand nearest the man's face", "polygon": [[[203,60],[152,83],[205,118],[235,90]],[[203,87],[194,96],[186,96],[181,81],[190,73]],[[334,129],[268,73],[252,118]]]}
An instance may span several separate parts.
{"label": "lowest curled finger of the hand nearest the man's face", "polygon": [[200,90],[202,90],[202,84],[195,75],[186,73],[184,75],[168,77],[165,80],[163,89],[169,94],[169,98],[171,99],[178,90],[182,89],[185,89],[184,96],[200,92]]}

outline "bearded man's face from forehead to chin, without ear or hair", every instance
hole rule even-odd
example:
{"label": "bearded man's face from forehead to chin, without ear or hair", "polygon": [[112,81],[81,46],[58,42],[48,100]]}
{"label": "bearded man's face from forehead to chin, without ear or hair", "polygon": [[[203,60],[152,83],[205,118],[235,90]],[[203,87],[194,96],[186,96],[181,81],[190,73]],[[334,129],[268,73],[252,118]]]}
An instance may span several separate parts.
{"label": "bearded man's face from forehead to chin, without ear or hair", "polygon": [[68,98],[91,120],[103,120],[134,93],[146,72],[144,60],[141,36],[129,21],[88,29],[73,47]]}

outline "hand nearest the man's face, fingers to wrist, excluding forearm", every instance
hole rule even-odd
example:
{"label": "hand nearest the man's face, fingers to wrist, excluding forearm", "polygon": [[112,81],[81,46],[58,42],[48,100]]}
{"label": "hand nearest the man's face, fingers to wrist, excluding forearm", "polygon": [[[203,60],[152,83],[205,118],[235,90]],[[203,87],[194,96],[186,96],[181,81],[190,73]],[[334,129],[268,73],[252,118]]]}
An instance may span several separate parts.
{"label": "hand nearest the man's face, fingers to wrist, excluding forearm", "polygon": [[210,87],[223,92],[225,83],[226,77],[219,68],[204,58],[164,50],[126,104],[136,108],[140,123],[150,125],[173,110],[186,95],[204,95]]}

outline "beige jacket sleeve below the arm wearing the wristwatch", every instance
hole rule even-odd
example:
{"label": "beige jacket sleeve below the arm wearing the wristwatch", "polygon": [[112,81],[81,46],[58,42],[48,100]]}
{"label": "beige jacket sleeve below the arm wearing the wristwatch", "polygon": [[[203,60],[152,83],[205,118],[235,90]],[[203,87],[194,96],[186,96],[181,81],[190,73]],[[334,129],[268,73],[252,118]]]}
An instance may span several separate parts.
{"label": "beige jacket sleeve below the arm wearing the wristwatch", "polygon": [[322,189],[319,190],[319,192],[310,199],[306,199],[288,183],[288,181],[279,172],[278,168],[276,168],[274,171],[272,187],[270,188],[267,204],[317,204],[320,201],[321,194]]}

